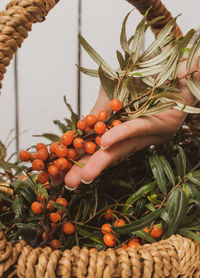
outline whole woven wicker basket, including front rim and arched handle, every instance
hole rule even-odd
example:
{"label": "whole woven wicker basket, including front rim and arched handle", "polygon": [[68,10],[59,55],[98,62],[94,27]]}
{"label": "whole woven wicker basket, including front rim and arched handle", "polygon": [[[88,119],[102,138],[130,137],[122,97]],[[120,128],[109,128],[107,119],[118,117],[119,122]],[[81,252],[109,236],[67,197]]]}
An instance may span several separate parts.
{"label": "whole woven wicker basket, including front rim and arched handle", "polygon": [[[13,54],[28,36],[32,23],[43,21],[59,0],[14,0],[0,13],[0,80]],[[171,18],[159,0],[128,0],[144,13],[152,5],[148,20],[165,15],[153,26],[155,35]],[[176,36],[181,35],[174,27]],[[1,84],[0,84],[1,85]],[[10,194],[10,193],[9,193]],[[12,271],[12,273],[10,273]],[[9,272],[9,274],[8,274]],[[200,277],[200,244],[173,235],[167,240],[137,249],[52,250],[31,248],[24,241],[12,245],[0,231],[0,277]]]}

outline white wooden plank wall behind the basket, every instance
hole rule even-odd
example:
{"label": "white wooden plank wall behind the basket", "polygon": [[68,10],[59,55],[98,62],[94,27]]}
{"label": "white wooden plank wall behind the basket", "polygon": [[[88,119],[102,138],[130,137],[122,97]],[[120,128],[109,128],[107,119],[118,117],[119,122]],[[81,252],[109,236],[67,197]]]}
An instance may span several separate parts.
{"label": "white wooden plank wall behind the basket", "polygon": [[[81,0],[82,35],[112,66],[117,67],[115,51],[120,50],[119,34],[125,15],[133,8],[125,0]],[[3,10],[9,1],[2,0]],[[178,24],[185,33],[200,25],[199,0],[163,0],[173,16],[182,13]],[[135,10],[128,21],[128,32],[134,31],[141,18]],[[57,133],[53,120],[68,117],[63,102],[77,110],[78,0],[60,0],[43,23],[33,26],[28,39],[18,51],[19,75],[19,143],[20,149],[44,139],[32,137],[43,132]],[[152,40],[149,34],[146,45]],[[84,50],[82,65],[97,68]],[[81,113],[87,114],[98,95],[99,81],[82,75]],[[0,140],[15,137],[14,66],[8,67],[0,96]],[[9,153],[16,149],[15,141]]]}

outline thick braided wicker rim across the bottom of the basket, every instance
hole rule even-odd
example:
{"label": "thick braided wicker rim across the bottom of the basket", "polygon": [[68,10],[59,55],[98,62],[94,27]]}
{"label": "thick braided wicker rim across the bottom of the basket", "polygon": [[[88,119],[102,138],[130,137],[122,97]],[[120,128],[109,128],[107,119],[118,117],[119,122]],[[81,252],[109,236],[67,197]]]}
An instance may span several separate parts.
{"label": "thick braided wicker rim across the bottom of the basket", "polygon": [[61,252],[50,247],[33,249],[24,241],[12,246],[0,231],[0,277],[11,266],[19,278],[199,278],[200,244],[173,235],[137,249],[97,252],[75,246]]}

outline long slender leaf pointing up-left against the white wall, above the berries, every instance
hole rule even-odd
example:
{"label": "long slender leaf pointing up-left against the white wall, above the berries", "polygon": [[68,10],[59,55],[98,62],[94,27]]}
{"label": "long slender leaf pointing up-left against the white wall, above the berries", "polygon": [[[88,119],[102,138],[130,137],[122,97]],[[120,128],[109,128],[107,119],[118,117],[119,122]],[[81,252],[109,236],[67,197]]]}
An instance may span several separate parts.
{"label": "long slender leaf pointing up-left against the white wall, above the berries", "polygon": [[91,56],[91,58],[101,67],[103,70],[112,76],[113,78],[117,78],[116,72],[101,58],[101,56],[87,43],[87,41],[79,35],[80,44],[87,51],[87,53]]}

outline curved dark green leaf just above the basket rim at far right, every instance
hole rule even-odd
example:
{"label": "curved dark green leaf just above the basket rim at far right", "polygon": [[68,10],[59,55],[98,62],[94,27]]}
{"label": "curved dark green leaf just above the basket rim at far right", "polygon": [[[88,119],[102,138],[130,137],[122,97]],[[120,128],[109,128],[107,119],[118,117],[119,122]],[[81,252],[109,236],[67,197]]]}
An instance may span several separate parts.
{"label": "curved dark green leaf just above the basket rim at far right", "polygon": [[177,190],[176,196],[177,197],[175,200],[176,202],[174,206],[174,212],[172,215],[171,223],[169,224],[168,229],[165,233],[165,238],[170,237],[172,234],[176,232],[187,210],[187,199],[181,189]]}

